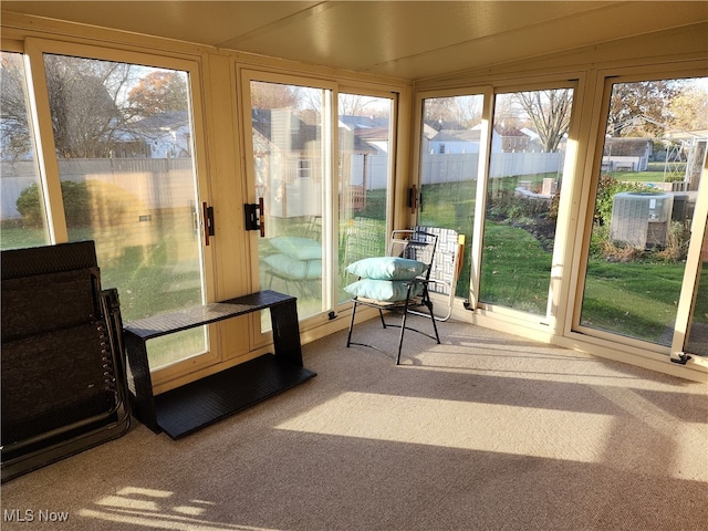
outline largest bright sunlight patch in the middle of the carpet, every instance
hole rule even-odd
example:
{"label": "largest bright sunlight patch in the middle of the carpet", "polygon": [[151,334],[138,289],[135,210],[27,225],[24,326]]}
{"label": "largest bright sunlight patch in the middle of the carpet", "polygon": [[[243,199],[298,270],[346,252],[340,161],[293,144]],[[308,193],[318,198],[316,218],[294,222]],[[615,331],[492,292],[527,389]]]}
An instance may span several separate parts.
{"label": "largest bright sunlight patch in the middle of the carpet", "polygon": [[350,392],[277,428],[598,462],[613,421],[608,415],[562,409]]}

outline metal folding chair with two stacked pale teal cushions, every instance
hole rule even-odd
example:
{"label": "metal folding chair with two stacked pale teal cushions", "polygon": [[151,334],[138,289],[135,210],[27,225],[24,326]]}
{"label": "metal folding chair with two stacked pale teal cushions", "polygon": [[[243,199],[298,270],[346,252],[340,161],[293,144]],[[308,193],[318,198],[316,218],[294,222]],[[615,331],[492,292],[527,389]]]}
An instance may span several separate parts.
{"label": "metal folding chair with two stacked pale teal cushions", "polygon": [[[374,345],[352,341],[356,310],[360,305],[378,310],[382,326],[398,327],[398,352],[396,365],[400,363],[403,340],[406,330],[435,340],[440,337],[433,313],[433,301],[428,291],[431,267],[438,237],[423,230],[394,230],[387,257],[373,257],[347,266],[348,273],[358,280],[345,288],[352,294],[352,320],[350,322],[346,346],[360,345],[377,350]],[[418,309],[425,309],[423,311]],[[400,324],[391,324],[384,317],[384,311],[402,315]],[[407,323],[408,314],[420,312],[430,316],[433,333],[412,327]]]}

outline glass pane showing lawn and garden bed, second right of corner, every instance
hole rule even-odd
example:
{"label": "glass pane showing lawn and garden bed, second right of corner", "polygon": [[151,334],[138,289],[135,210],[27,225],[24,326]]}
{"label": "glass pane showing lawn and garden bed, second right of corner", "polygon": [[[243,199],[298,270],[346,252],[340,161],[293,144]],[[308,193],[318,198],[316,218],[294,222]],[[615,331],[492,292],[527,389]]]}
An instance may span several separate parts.
{"label": "glass pane showing lawn and garden bed, second right of corner", "polygon": [[572,88],[497,94],[479,301],[545,316]]}

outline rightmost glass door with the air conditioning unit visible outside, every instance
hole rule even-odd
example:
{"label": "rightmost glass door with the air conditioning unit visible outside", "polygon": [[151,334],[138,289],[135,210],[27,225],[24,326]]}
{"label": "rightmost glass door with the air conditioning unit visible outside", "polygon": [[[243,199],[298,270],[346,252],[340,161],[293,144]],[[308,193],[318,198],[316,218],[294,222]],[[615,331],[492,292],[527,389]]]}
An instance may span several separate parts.
{"label": "rightmost glass door with the air conditioning unit visible outside", "polygon": [[[707,79],[608,84],[610,102],[580,325],[670,346],[706,160]],[[705,196],[704,196],[705,197]],[[704,199],[705,200],[705,199]],[[702,210],[700,210],[702,211]],[[702,220],[697,220],[704,223]],[[705,257],[704,257],[705,260]],[[705,293],[705,273],[690,293]],[[705,296],[688,347],[705,350]]]}

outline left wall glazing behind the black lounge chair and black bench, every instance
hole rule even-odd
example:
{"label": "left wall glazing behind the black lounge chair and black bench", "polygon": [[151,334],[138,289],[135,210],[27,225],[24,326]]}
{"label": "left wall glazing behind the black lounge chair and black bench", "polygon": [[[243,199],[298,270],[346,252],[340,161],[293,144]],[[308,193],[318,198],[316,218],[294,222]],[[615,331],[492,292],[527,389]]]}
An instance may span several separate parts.
{"label": "left wall glazing behind the black lounge chair and black bench", "polygon": [[[41,61],[33,73],[46,94],[38,123],[50,124],[40,127],[48,169],[40,178],[25,58],[3,53],[3,249],[94,240],[102,284],[118,290],[126,322],[202,303],[189,72],[70,53],[29,56]],[[60,236],[50,238],[48,227]],[[207,351],[201,329],[154,340],[150,368]]]}

